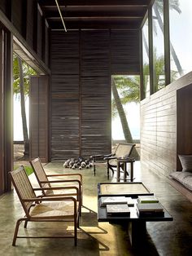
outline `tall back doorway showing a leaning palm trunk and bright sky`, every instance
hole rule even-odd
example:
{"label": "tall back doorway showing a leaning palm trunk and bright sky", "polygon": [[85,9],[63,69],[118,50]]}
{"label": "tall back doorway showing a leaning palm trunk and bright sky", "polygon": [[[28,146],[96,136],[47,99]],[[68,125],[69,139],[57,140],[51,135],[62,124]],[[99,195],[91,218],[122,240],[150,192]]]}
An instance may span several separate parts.
{"label": "tall back doorway showing a leaning palm trunk and bright sky", "polygon": [[111,139],[117,143],[136,143],[140,155],[140,77],[137,75],[111,76]]}

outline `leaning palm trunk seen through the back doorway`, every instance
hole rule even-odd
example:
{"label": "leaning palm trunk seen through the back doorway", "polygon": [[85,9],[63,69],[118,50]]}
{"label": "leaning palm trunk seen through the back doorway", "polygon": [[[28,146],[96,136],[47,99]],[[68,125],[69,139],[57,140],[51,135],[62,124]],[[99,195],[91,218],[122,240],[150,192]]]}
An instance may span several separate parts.
{"label": "leaning palm trunk seen through the back doorway", "polygon": [[[132,138],[132,135],[131,135],[131,132],[130,132],[130,129],[129,129],[129,125],[128,125],[126,115],[124,113],[124,108],[123,108],[123,106],[121,104],[121,101],[120,101],[120,96],[119,96],[118,91],[116,89],[116,82],[115,82],[114,78],[112,78],[112,94],[113,94],[114,100],[116,102],[117,111],[118,111],[119,116],[120,116],[121,126],[122,126],[122,129],[124,131],[124,139],[126,140],[127,143],[133,143],[133,138]],[[139,159],[139,156],[138,156],[138,153],[137,153],[136,149],[133,150],[133,157],[135,157],[136,160]]]}

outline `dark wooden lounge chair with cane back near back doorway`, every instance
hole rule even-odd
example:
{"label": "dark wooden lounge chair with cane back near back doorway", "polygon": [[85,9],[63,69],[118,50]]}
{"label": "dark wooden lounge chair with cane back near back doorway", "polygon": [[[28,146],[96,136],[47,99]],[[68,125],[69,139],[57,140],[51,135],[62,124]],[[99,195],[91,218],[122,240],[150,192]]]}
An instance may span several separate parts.
{"label": "dark wooden lounge chair with cane back near back doorway", "polygon": [[[107,161],[107,179],[109,179],[109,170],[111,170],[112,173],[114,174],[114,168],[117,167],[116,159],[119,157],[122,157],[122,158],[130,157],[134,147],[135,147],[135,144],[133,143],[119,143],[114,153],[111,153],[108,155],[91,156],[94,160],[94,174],[96,172],[96,163],[99,161]],[[124,165],[122,164],[120,167],[123,168]]]}

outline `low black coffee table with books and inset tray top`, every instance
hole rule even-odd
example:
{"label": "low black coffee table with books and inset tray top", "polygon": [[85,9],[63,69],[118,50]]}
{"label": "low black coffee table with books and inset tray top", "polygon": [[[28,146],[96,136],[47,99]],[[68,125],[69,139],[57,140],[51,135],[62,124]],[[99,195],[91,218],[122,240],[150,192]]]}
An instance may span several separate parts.
{"label": "low black coffee table with books and inset tray top", "polygon": [[[116,186],[117,184],[122,184],[124,190],[122,193],[120,191],[113,191],[114,188],[120,188]],[[126,185],[127,184],[127,185]],[[107,185],[108,193],[107,193]],[[134,188],[141,188],[141,191],[134,191]],[[127,187],[127,192],[125,191]],[[130,188],[130,191],[129,191]],[[103,193],[104,192],[104,193]],[[113,194],[111,193],[113,192]],[[129,230],[129,239],[133,247],[138,246],[143,238],[146,236],[146,222],[164,222],[172,221],[173,218],[168,211],[164,209],[164,216],[147,216],[139,217],[136,210],[137,196],[139,195],[153,195],[143,183],[98,183],[98,222],[109,222],[109,223],[122,223],[128,225]],[[129,216],[108,216],[106,206],[101,207],[100,201],[102,196],[130,196],[133,198],[134,206],[130,206],[130,215]]]}

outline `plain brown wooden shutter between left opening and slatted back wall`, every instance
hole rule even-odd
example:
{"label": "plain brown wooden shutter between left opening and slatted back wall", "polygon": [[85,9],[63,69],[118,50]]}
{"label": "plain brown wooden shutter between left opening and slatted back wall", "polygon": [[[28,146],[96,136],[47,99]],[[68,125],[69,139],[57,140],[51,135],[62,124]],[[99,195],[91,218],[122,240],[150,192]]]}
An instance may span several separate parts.
{"label": "plain brown wooden shutter between left opening and slatted back wall", "polygon": [[49,77],[31,77],[29,105],[29,153],[30,159],[40,157],[42,162],[48,161],[48,97]]}

